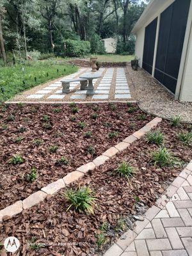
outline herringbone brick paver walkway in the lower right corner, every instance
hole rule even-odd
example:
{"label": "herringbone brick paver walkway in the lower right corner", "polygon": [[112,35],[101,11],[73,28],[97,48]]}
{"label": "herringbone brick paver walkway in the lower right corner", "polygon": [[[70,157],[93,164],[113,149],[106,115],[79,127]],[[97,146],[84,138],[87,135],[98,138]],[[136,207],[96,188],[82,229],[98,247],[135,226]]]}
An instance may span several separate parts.
{"label": "herringbone brick paver walkway in the lower right corner", "polygon": [[192,162],[104,256],[192,256]]}

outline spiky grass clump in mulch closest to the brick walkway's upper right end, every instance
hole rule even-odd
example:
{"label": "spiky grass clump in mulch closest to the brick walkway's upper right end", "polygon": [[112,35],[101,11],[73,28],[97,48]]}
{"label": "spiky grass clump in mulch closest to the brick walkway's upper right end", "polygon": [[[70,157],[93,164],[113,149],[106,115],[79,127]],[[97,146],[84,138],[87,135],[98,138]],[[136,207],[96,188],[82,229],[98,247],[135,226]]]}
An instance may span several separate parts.
{"label": "spiky grass clump in mulch closest to the brick walkway's upper right end", "polygon": [[158,164],[159,166],[175,166],[179,165],[180,161],[170,153],[166,147],[160,147],[155,152],[152,152],[152,162],[154,165]]}

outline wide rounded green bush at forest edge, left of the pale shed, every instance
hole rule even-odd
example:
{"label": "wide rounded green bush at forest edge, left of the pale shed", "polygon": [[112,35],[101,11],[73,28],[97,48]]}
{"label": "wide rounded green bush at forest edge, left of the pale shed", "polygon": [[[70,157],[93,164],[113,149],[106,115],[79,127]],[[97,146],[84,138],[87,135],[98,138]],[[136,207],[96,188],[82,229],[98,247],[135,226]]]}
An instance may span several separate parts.
{"label": "wide rounded green bush at forest edge, left of the pale shed", "polygon": [[71,40],[64,41],[66,45],[66,55],[69,57],[81,57],[90,53],[91,46],[88,41]]}

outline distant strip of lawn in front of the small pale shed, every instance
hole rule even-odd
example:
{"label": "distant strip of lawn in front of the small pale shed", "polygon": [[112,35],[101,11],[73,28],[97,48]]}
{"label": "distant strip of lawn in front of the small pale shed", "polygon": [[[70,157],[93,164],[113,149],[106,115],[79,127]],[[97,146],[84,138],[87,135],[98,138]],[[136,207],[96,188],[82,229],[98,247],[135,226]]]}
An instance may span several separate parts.
{"label": "distant strip of lawn in front of the small pale shed", "polygon": [[124,62],[131,61],[134,59],[134,55],[118,55],[118,54],[105,54],[105,55],[96,55],[98,61],[103,62]]}

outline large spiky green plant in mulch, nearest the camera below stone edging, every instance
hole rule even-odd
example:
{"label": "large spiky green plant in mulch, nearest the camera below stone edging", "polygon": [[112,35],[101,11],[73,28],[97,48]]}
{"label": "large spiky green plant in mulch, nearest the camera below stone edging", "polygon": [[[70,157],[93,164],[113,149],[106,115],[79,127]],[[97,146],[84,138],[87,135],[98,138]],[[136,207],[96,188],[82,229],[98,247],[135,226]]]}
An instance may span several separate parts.
{"label": "large spiky green plant in mulch, nearest the camera below stone edging", "polygon": [[86,212],[93,214],[93,205],[95,205],[95,193],[88,186],[78,187],[76,189],[67,189],[64,193],[65,199],[68,200],[70,205],[67,211],[74,207],[78,212]]}

